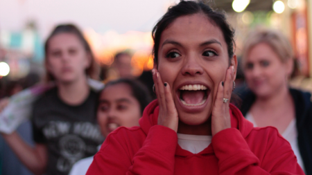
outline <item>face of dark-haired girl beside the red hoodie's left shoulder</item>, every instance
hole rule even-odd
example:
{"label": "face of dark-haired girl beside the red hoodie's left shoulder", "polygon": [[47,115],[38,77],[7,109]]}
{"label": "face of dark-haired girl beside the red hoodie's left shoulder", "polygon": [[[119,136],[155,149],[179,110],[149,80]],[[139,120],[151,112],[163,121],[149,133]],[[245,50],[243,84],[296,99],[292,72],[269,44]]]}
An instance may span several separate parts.
{"label": "face of dark-haired girl beside the red hoodie's left shoulder", "polygon": [[101,133],[106,137],[117,127],[139,126],[140,104],[128,84],[114,84],[102,91],[97,115]]}

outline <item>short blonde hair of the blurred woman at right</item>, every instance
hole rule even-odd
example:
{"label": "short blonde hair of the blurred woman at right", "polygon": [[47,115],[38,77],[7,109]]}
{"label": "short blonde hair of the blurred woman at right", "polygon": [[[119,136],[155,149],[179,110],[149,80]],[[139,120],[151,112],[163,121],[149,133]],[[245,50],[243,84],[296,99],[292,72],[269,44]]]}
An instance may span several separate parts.
{"label": "short blonde hair of the blurred woman at right", "polygon": [[272,29],[258,29],[252,31],[245,39],[242,61],[248,56],[248,52],[258,44],[265,43],[279,56],[281,62],[293,59],[293,48],[288,39],[281,32]]}

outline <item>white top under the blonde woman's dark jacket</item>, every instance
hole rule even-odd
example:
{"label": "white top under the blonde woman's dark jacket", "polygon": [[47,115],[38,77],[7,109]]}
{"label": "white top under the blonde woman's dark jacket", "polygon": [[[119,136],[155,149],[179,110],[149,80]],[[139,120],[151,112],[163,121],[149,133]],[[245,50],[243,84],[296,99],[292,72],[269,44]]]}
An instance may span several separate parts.
{"label": "white top under the blonde woman's dark jacket", "polygon": [[[254,117],[251,115],[251,113],[247,113],[246,119],[252,122],[254,127],[257,127],[257,124],[254,121]],[[297,133],[297,128],[296,128],[295,118],[291,120],[288,127],[285,129],[284,133],[281,133],[281,136],[283,136],[291,144],[291,148],[293,149],[293,152],[295,153],[295,156],[297,157],[297,162],[300,165],[300,167],[302,167],[302,169],[304,170],[304,163],[302,161],[298,142],[297,142],[298,133]]]}

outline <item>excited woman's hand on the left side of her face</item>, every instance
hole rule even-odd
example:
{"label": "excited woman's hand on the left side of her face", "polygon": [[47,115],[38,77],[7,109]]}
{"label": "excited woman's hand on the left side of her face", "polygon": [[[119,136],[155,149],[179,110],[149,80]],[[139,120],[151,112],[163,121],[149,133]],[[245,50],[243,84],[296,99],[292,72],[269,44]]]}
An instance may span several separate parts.
{"label": "excited woman's hand on the left side of her face", "polygon": [[158,125],[168,127],[177,132],[179,118],[177,117],[177,109],[173,102],[171,88],[167,82],[162,82],[162,77],[160,77],[156,69],[153,69],[153,80],[159,103]]}

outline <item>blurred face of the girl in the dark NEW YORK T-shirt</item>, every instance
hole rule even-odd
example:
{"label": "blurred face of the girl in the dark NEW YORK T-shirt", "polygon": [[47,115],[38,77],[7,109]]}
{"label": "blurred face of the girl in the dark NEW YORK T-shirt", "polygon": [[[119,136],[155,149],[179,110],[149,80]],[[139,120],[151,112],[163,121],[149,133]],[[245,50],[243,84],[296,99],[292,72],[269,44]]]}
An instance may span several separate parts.
{"label": "blurred face of the girl in the dark NEW YORK T-shirt", "polygon": [[76,35],[60,33],[51,37],[46,68],[58,82],[73,82],[85,77],[91,57]]}

